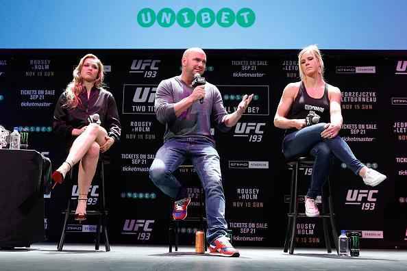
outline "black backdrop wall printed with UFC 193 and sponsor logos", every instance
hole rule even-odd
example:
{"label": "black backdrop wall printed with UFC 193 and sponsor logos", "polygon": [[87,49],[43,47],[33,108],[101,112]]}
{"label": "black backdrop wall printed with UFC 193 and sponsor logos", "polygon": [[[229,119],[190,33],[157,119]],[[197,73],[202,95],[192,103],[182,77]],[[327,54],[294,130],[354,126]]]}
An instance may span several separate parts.
{"label": "black backdrop wall printed with UFC 193 and sponsor logos", "polygon": [[[0,125],[29,128],[30,149],[53,162],[64,160],[64,143],[53,134],[53,109],[80,57],[95,53],[106,65],[106,83],[114,94],[123,126],[121,142],[110,150],[106,166],[109,233],[112,242],[166,244],[171,201],[149,181],[148,169],[162,144],[164,126],[153,112],[156,87],[180,74],[182,50],[0,50]],[[214,130],[221,155],[226,218],[236,246],[282,246],[288,209],[290,172],[281,154],[283,131],[273,116],[287,83],[298,81],[296,50],[207,50],[205,77],[218,86],[228,112],[243,94],[254,99],[229,133]],[[407,51],[323,51],[325,78],[342,91],[341,135],[356,157],[388,179],[378,187],[362,183],[336,162],[334,209],[338,230],[360,231],[364,247],[407,244]],[[21,165],[23,168],[24,165]],[[16,169],[18,170],[18,169]],[[311,170],[301,170],[301,195]],[[199,179],[193,168],[178,177],[199,209]],[[3,181],[3,180],[2,180]],[[12,181],[12,180],[8,180]],[[88,208],[99,203],[98,178]],[[67,189],[66,189],[67,188]],[[68,191],[68,192],[67,192]],[[6,193],[6,192],[5,192]],[[45,195],[47,238],[56,241],[66,200],[77,186],[58,185]],[[303,208],[303,205],[301,205]],[[67,241],[92,240],[94,220],[69,223]],[[181,241],[191,244],[197,224],[182,224]],[[297,223],[299,246],[323,246],[322,224]]]}

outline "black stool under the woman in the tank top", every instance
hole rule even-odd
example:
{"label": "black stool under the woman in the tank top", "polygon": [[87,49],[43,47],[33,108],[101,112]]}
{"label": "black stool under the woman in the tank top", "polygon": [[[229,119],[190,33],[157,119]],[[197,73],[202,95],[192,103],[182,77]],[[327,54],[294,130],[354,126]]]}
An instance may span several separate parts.
{"label": "black stool under the woman in the tank top", "polygon": [[[298,172],[299,168],[312,168],[314,166],[314,158],[309,156],[299,156],[286,161],[287,168],[292,170],[291,172],[291,193],[290,193],[290,206],[287,214],[288,224],[286,229],[286,239],[284,241],[284,252],[288,252],[290,249],[290,254],[294,253],[295,247],[295,227],[297,218],[308,218],[306,214],[298,212]],[[331,181],[328,177],[328,193],[324,190],[322,191],[322,211],[320,211],[319,216],[313,218],[322,218],[323,221],[323,235],[325,240],[325,246],[328,253],[332,252],[330,245],[330,237],[328,234],[328,220],[330,220],[330,232],[332,233],[332,239],[334,241],[334,246],[336,252],[338,253],[338,235],[336,233],[335,221],[334,221],[334,207],[332,203],[332,194],[331,194]],[[328,211],[326,209],[328,205]]]}

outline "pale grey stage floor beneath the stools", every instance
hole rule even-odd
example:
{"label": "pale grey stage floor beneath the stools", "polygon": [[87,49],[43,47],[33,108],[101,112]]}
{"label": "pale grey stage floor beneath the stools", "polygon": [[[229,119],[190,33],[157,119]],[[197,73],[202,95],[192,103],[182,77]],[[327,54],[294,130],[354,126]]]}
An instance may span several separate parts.
{"label": "pale grey stage floor beneath the stools", "polygon": [[92,244],[32,244],[30,248],[0,250],[0,270],[407,270],[407,250],[362,250],[360,257],[338,257],[323,249],[238,248],[239,258],[195,255],[192,246],[168,253],[166,246],[111,246],[110,252]]}

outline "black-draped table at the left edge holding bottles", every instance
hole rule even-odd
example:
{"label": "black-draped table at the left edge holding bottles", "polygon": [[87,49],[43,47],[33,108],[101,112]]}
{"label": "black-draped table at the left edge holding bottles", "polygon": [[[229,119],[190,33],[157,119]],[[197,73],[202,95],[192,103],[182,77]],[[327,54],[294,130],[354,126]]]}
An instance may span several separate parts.
{"label": "black-draped table at the left edge holding bottles", "polygon": [[0,149],[1,248],[44,240],[46,163],[37,151]]}

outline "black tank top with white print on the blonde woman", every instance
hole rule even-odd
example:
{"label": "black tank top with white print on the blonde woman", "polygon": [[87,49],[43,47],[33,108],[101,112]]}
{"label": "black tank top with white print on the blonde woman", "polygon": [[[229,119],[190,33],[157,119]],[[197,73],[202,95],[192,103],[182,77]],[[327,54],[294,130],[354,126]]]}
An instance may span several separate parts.
{"label": "black tank top with white print on the blonde woman", "polygon": [[[301,82],[298,94],[295,97],[286,118],[306,118],[310,111],[313,111],[315,114],[318,114],[321,117],[319,119],[319,122],[330,122],[330,99],[328,98],[328,83],[325,83],[323,96],[320,99],[314,99],[310,95],[308,95],[304,82]],[[293,131],[297,131],[297,129],[288,129],[286,133],[291,133]]]}

